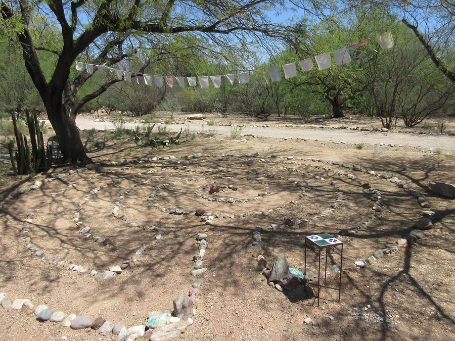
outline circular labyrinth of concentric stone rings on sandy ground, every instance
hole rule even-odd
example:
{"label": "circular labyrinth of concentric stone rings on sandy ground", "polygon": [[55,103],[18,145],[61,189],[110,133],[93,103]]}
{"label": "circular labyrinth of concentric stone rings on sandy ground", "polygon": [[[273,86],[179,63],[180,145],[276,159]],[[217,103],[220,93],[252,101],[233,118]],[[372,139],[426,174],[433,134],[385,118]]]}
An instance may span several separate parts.
{"label": "circular labyrinth of concentric stone rings on sandy ground", "polygon": [[[193,283],[193,276],[204,276],[215,258],[224,259],[225,250],[210,250],[212,239],[224,240],[234,252],[255,257],[286,249],[295,254],[294,264],[300,267],[302,237],[331,232],[347,243],[352,240],[346,251],[352,262],[382,248],[378,245],[381,233],[403,219],[394,215],[397,205],[410,212],[404,217],[410,226],[420,219],[418,226],[431,227],[433,215],[420,193],[393,176],[317,159],[198,155],[105,167],[58,174],[43,186],[33,184],[12,193],[2,206],[23,243],[22,252],[18,249],[17,253],[31,273],[46,269],[63,276],[85,297],[93,297],[90,289],[82,288],[92,277],[99,285],[109,279],[114,290],[127,285],[133,297],[143,297],[140,291],[153,282],[162,300],[153,307],[141,300],[142,315],[168,307],[182,290],[186,294],[185,288],[201,285]],[[351,174],[346,168],[361,174]],[[215,182],[219,191],[209,193]],[[409,202],[397,186],[418,203]],[[422,218],[416,217],[419,210]],[[201,214],[196,216],[196,211]],[[254,234],[252,249],[245,248],[244,242],[230,243],[233,235],[248,234],[253,228],[262,234]],[[198,235],[199,254],[195,255],[195,236],[201,229],[210,232],[210,245],[207,235]],[[365,238],[361,248],[355,238]],[[415,238],[405,240],[411,244]],[[213,253],[208,260],[205,250]],[[223,261],[219,263],[222,266]],[[73,271],[61,274],[61,269]],[[193,276],[188,276],[190,271]],[[81,274],[86,276],[78,277]],[[72,284],[75,280],[81,283]],[[167,285],[169,280],[172,286]],[[56,291],[57,296],[64,295],[61,286]],[[111,293],[106,288],[100,293],[102,311],[110,306]],[[199,291],[190,294],[194,302],[198,295]],[[130,306],[128,298],[122,300],[125,307]],[[74,307],[55,304],[67,311],[88,309],[84,302]],[[92,314],[97,311],[88,309]],[[127,313],[128,308],[120,312]]]}

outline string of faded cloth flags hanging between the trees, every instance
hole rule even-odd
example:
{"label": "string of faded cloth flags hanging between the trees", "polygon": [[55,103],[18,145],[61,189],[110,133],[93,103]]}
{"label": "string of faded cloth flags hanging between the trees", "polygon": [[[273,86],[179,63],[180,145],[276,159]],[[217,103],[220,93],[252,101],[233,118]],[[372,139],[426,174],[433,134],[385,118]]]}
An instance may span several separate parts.
{"label": "string of faded cloth flags hanging between the trees", "polygon": [[[394,46],[394,40],[392,36],[392,32],[388,31],[382,34],[379,34],[376,37],[376,40],[378,41],[379,45],[381,48],[384,50],[388,48],[392,48]],[[370,39],[365,39],[363,41],[360,41],[358,43],[355,43],[350,46],[346,46],[343,48],[340,48],[339,50],[335,50],[333,52],[333,55],[335,57],[335,64],[338,66],[348,64],[351,62],[351,56],[349,54],[349,48],[358,48],[361,46],[368,45],[370,43]],[[332,66],[332,54],[330,52],[324,53],[319,56],[315,56],[314,60],[316,61],[317,68],[319,70],[326,70],[329,69]],[[303,72],[308,72],[314,68],[313,66],[313,59],[312,58],[307,58],[300,60],[298,62],[300,69]],[[185,87],[185,79],[188,82],[189,86],[196,87],[197,86],[197,81],[199,81],[199,86],[203,89],[206,89],[209,87],[209,79],[211,80],[213,86],[215,88],[219,88],[221,86],[221,79],[224,77],[226,80],[229,81],[231,85],[234,85],[235,79],[236,79],[236,74],[231,73],[231,74],[225,74],[225,75],[216,75],[216,76],[159,76],[159,75],[148,75],[148,74],[142,74],[142,73],[134,73],[131,71],[124,71],[120,69],[115,69],[111,68],[109,66],[104,65],[96,65],[96,64],[88,64],[88,63],[82,63],[82,62],[76,62],[76,70],[77,71],[87,71],[89,74],[93,74],[95,67],[99,70],[108,70],[111,73],[115,74],[118,80],[124,80],[127,82],[130,82],[132,80],[132,76],[134,75],[135,81],[140,84],[140,79],[144,80],[144,83],[146,85],[153,85],[155,83],[156,86],[158,87],[163,87],[164,83],[166,83],[167,87],[171,88],[174,86],[175,83],[178,84],[181,88]],[[285,64],[281,66],[285,79],[289,79],[292,77],[297,76],[297,66],[296,62]],[[281,69],[278,66],[272,66],[267,68],[268,74],[270,76],[270,80],[272,82],[278,82],[282,79],[281,77]],[[246,84],[249,83],[250,81],[250,76],[253,74],[254,71],[245,71],[245,72],[239,72],[237,74],[237,78],[240,84]],[[163,81],[164,79],[164,81]],[[175,80],[175,82],[174,82]],[[268,79],[265,76],[265,81],[268,84]]]}

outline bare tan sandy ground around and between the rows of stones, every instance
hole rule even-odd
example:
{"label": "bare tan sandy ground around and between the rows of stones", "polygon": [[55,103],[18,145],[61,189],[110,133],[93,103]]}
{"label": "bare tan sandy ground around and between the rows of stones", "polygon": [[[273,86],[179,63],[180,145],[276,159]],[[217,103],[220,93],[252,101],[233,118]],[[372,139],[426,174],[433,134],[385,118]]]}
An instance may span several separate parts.
{"label": "bare tan sandy ground around and between the rows of stones", "polygon": [[[278,137],[283,137],[283,133],[289,136],[294,131],[277,130],[280,131]],[[353,132],[353,136],[358,140],[365,138],[360,132]],[[94,318],[102,315],[128,326],[144,324],[149,311],[172,309],[173,298],[187,293],[194,280],[190,270],[194,266],[191,258],[197,250],[195,236],[206,231],[208,248],[204,266],[208,270],[202,277],[195,322],[181,336],[183,339],[453,338],[455,210],[453,200],[437,197],[427,187],[431,180],[455,181],[455,160],[451,155],[422,154],[415,149],[381,149],[368,143],[357,150],[347,144],[246,138],[247,142],[240,142],[222,135],[198,137],[179,146],[153,150],[135,147],[130,138],[114,140],[109,133],[97,132],[95,140],[105,139],[106,144],[105,148],[98,149],[93,142],[87,142],[94,162],[199,152],[205,156],[130,163],[127,167],[101,166],[96,171],[52,181],[5,205],[0,213],[3,255],[0,291],[12,299],[28,298],[35,305],[47,304],[54,310]],[[426,135],[425,138],[428,143],[437,144],[440,136]],[[444,145],[444,150],[451,151],[450,143]],[[221,153],[235,156],[220,157]],[[241,157],[253,153],[258,156]],[[270,158],[272,155],[276,158]],[[294,158],[287,160],[288,156]],[[326,171],[316,168],[320,163],[302,160],[308,157],[358,163],[410,181],[426,193],[437,217],[435,227],[426,231],[427,237],[412,248],[400,249],[372,266],[357,269],[353,266],[355,260],[368,258],[376,249],[410,231],[421,208],[414,198],[389,181],[355,172],[383,194],[384,209],[369,226],[360,228],[354,235],[340,237],[344,242],[341,302],[333,300],[334,294],[325,290],[323,297],[329,300],[321,300],[320,307],[312,306],[313,300],[305,299],[299,291],[281,293],[269,287],[265,277],[255,270],[251,247],[251,231],[256,226],[282,224],[288,218],[309,219],[307,224],[262,233],[268,264],[272,264],[279,253],[285,253],[291,266],[303,270],[305,235],[337,233],[371,217],[371,193],[337,173],[346,171],[345,168],[330,165],[334,171]],[[52,173],[61,171],[55,169]],[[120,177],[125,179],[109,183]],[[148,179],[148,183],[143,183]],[[194,194],[195,190],[203,191],[201,185],[215,180],[238,186],[238,190],[225,189],[213,198],[252,198],[264,191],[264,183],[268,184],[270,194],[262,201],[234,204],[211,202]],[[26,181],[16,179],[4,185],[1,197]],[[191,213],[188,216],[169,215],[147,201],[154,188],[172,181],[180,183],[162,189],[156,200],[166,209],[186,210]],[[296,185],[295,181],[300,184]],[[69,186],[71,184],[73,186]],[[110,238],[106,246],[85,239],[73,221],[75,207],[96,186],[102,188],[90,194],[90,200],[79,212],[93,233]],[[302,198],[299,198],[300,187],[306,191]],[[141,226],[166,228],[161,240],[154,239],[151,229],[129,226],[112,215],[114,203],[127,189],[130,191],[119,203],[121,213]],[[346,197],[343,204],[336,211],[321,216],[338,198],[339,191]],[[214,226],[204,225],[195,217],[196,208],[217,215]],[[261,210],[265,210],[266,215],[254,213]],[[128,259],[143,244],[147,249],[122,274],[97,282],[88,275],[45,264],[25,249],[18,236],[30,211],[36,211],[30,229],[32,241],[45,253],[86,268],[105,269]],[[222,218],[224,214],[235,218]],[[337,263],[338,260],[333,259],[333,264]],[[310,258],[307,266],[316,271],[315,265],[315,259]],[[337,274],[330,274],[328,281],[336,278]],[[360,311],[365,312],[366,319],[358,318]],[[384,314],[390,323],[369,320],[373,313]],[[312,323],[304,323],[307,317]],[[59,339],[63,335],[68,339],[114,339],[112,335],[101,337],[94,331],[72,331],[52,323],[39,324],[32,316],[3,309],[0,309],[0,320],[0,339],[31,340],[37,335],[40,339]]]}

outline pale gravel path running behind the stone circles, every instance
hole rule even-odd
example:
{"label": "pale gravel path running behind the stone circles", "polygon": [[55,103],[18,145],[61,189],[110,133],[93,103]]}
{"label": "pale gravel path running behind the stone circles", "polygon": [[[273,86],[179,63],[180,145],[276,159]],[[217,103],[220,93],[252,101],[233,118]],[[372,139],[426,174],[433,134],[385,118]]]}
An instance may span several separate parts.
{"label": "pale gravel path running behind the stone circles", "polygon": [[[92,119],[78,118],[76,124],[80,129],[96,128],[98,130],[114,129],[111,122],[95,122]],[[126,128],[133,128],[138,123],[125,123]],[[219,134],[229,135],[232,127],[228,126],[207,126],[202,123],[192,124],[169,124],[167,125],[170,131],[179,131],[180,128],[188,128],[191,131],[214,130]],[[443,149],[446,151],[455,151],[455,136],[447,135],[426,135],[426,134],[403,134],[397,132],[369,132],[348,129],[317,129],[317,128],[254,128],[243,127],[242,134],[253,134],[263,137],[273,138],[309,138],[318,139],[320,141],[344,141],[346,143],[365,142],[369,144],[393,143],[408,145],[412,147],[421,147],[424,149]]]}

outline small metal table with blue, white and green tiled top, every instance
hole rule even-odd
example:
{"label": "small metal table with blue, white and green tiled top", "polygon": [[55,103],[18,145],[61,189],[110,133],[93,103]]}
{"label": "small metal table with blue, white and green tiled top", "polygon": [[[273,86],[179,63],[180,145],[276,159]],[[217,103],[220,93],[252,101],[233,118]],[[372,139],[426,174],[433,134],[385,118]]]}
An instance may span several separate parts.
{"label": "small metal table with blue, white and green tiled top", "polygon": [[[317,299],[317,306],[319,307],[319,298],[320,298],[320,292],[321,288],[327,288],[327,289],[334,289],[338,290],[338,302],[340,302],[340,296],[341,296],[341,272],[342,272],[342,266],[343,266],[343,242],[334,236],[328,234],[328,233],[322,233],[322,234],[314,234],[314,235],[309,235],[305,237],[305,268],[304,268],[304,274],[306,278],[306,249],[310,249],[313,251],[319,258],[319,265],[317,269],[317,296],[315,299]],[[330,252],[329,252],[330,251]],[[341,256],[340,260],[340,281],[338,284],[338,288],[336,287],[330,287],[326,285],[327,281],[327,257],[328,255],[334,255],[334,254],[339,254]],[[324,284],[321,284],[321,257],[326,258],[326,265],[325,265],[325,275],[324,275]],[[308,281],[306,281],[308,283]],[[314,301],[313,301],[314,304]]]}

